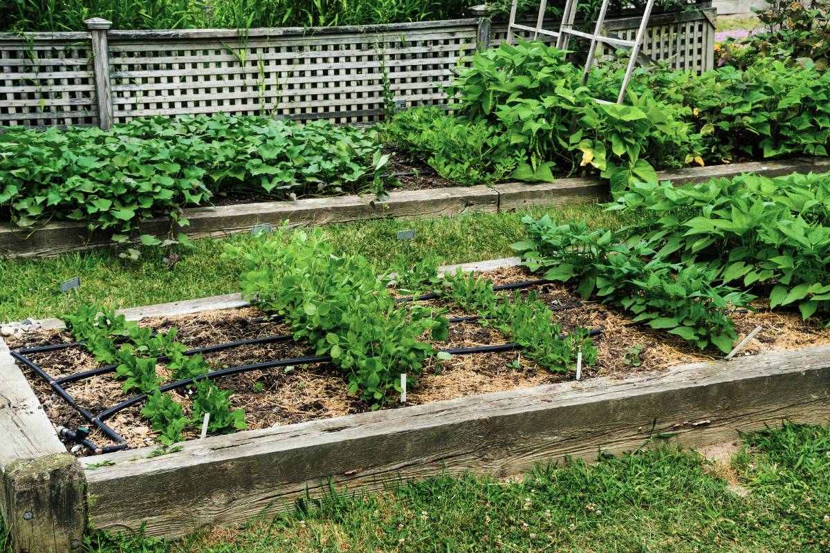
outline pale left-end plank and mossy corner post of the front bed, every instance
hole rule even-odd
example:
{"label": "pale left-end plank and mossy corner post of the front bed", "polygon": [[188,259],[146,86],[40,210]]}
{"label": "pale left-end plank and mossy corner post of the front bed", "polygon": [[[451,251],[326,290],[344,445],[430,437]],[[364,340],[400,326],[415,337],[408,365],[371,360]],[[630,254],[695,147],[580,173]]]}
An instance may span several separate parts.
{"label": "pale left-end plank and mossy corner post of the front bed", "polygon": [[2,338],[0,436],[0,512],[17,551],[76,549],[86,528],[84,474]]}

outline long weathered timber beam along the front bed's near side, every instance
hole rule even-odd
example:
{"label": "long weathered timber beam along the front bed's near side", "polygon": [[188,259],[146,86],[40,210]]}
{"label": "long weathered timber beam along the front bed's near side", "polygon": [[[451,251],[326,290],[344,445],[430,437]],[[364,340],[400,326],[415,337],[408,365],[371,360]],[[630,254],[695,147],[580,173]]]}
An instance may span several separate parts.
{"label": "long weathered timber beam along the front bed's near side", "polygon": [[[147,458],[107,454],[87,471],[96,527],[177,537],[291,508],[337,486],[466,470],[499,476],[564,456],[595,458],[672,434],[686,446],[735,439],[784,418],[830,418],[830,346],[678,366],[194,440]],[[652,434],[652,421],[657,421]],[[129,501],[125,501],[129,497]]]}

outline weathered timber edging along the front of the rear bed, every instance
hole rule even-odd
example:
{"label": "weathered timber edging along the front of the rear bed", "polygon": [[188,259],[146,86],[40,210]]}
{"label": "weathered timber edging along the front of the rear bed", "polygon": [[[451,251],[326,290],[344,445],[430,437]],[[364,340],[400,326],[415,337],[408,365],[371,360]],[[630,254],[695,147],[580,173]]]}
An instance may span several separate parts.
{"label": "weathered timber edging along the front of the rear bed", "polygon": [[[745,172],[773,177],[791,172],[827,171],[830,171],[830,161],[826,159],[800,158],[693,167],[658,172],[657,176],[680,185],[714,177],[734,177]],[[279,224],[286,220],[291,221],[292,226],[306,226],[382,217],[417,219],[466,212],[513,211],[527,206],[597,201],[607,197],[608,183],[598,178],[563,178],[540,184],[515,182],[493,187],[441,187],[391,192],[385,201],[377,201],[373,195],[349,195],[189,208],[183,211],[183,216],[190,225],[179,230],[191,238],[200,238],[248,232],[251,226],[260,223]],[[140,230],[164,238],[170,230],[170,221],[167,218],[145,221]],[[56,255],[112,244],[109,234],[90,234],[82,222],[49,223],[34,231],[0,226],[0,255],[8,257]]]}

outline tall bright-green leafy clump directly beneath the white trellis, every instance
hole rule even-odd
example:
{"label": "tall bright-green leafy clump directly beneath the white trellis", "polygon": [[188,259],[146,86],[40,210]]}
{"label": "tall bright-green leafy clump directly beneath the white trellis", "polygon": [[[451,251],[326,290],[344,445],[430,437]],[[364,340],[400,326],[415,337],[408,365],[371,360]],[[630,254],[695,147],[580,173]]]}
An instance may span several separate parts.
{"label": "tall bright-green leafy clump directly beneath the white trellis", "polygon": [[[654,167],[698,158],[699,137],[681,121],[690,109],[632,95],[630,105],[596,104],[565,52],[541,42],[476,54],[447,92],[457,115],[399,114],[393,136],[447,178],[465,184],[506,176],[602,172],[615,189],[654,178]],[[466,144],[466,145],[465,145]],[[463,179],[463,180],[462,180]]]}

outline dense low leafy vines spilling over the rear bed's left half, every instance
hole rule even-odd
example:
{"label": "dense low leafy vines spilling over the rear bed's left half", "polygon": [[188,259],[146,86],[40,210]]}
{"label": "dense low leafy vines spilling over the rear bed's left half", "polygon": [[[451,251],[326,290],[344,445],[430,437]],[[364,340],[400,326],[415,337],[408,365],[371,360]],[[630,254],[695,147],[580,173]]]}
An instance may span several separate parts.
{"label": "dense low leafy vines spilling over the rear bed's left half", "polygon": [[0,133],[0,215],[27,229],[85,221],[124,243],[141,221],[169,215],[186,226],[184,206],[222,196],[382,195],[380,148],[372,130],[225,114],[135,119],[110,131],[9,129]]}

